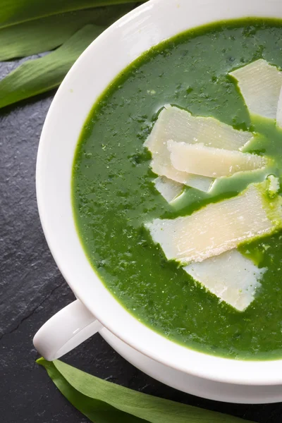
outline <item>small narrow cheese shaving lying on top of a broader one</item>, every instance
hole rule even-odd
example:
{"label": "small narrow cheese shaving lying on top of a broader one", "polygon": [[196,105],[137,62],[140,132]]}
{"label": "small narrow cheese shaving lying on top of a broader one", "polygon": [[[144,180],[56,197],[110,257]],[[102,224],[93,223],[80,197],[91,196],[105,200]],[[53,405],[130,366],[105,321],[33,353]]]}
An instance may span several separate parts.
{"label": "small narrow cheese shaving lying on top of a broader one", "polygon": [[240,171],[254,171],[264,168],[265,157],[256,154],[236,152],[221,148],[206,147],[203,144],[185,144],[168,141],[171,164],[178,170],[197,175],[220,178]]}

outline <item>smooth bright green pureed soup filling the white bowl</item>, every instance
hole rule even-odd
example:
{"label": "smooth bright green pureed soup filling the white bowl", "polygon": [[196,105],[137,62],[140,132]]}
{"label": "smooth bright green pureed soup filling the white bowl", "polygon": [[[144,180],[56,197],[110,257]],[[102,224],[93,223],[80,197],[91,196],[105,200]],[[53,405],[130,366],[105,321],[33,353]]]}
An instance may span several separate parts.
{"label": "smooth bright green pureed soup filling the white bowl", "polygon": [[237,20],[190,30],[159,44],[126,68],[94,104],[73,165],[78,233],[105,286],[125,309],[171,341],[240,359],[282,357],[282,234],[258,238],[240,252],[266,267],[255,300],[243,312],[220,301],[176,262],[145,228],[153,219],[186,216],[238,195],[268,172],[225,178],[212,193],[185,188],[168,204],[154,186],[143,146],[165,104],[259,133],[248,152],[282,169],[282,130],[252,119],[228,72],[257,59],[282,67],[278,20]]}

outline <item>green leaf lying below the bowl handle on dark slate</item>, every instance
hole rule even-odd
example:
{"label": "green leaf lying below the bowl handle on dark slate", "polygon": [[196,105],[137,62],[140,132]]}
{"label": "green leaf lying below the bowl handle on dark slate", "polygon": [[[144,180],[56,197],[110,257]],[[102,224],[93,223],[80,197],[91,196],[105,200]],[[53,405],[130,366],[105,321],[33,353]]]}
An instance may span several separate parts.
{"label": "green leaf lying below the bowl handle on dark slate", "polygon": [[[164,400],[111,384],[59,360],[47,362],[40,358],[37,363],[45,367],[59,391],[95,423],[119,422],[121,415],[118,413],[120,412],[130,415],[130,419],[122,420],[130,423],[142,421],[149,423],[247,423],[246,420],[237,417]],[[103,408],[106,406],[111,408]],[[103,410],[104,415],[102,415]]]}

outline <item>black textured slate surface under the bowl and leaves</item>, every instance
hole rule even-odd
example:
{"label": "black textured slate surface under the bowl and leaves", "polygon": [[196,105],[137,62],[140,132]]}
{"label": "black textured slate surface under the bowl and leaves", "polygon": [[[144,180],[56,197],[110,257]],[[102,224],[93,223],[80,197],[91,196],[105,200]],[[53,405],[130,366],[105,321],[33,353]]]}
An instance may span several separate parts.
{"label": "black textured slate surface under the bowl and leaves", "polygon": [[[13,66],[2,64],[0,78]],[[88,422],[35,364],[32,345],[37,329],[74,299],[44,240],[35,196],[37,145],[53,97],[51,92],[0,110],[0,422],[5,423]],[[99,335],[63,360],[137,391],[254,422],[282,422],[281,404],[216,403],[168,388],[125,362]]]}

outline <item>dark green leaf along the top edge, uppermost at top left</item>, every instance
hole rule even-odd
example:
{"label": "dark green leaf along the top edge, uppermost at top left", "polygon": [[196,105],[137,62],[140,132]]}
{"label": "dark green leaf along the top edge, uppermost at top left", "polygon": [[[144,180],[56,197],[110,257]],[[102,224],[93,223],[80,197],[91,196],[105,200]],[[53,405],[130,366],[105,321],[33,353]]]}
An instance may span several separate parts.
{"label": "dark green leaf along the top edge, uppermost at top left", "polygon": [[1,0],[0,26],[85,8],[125,3],[136,3],[136,0]]}

